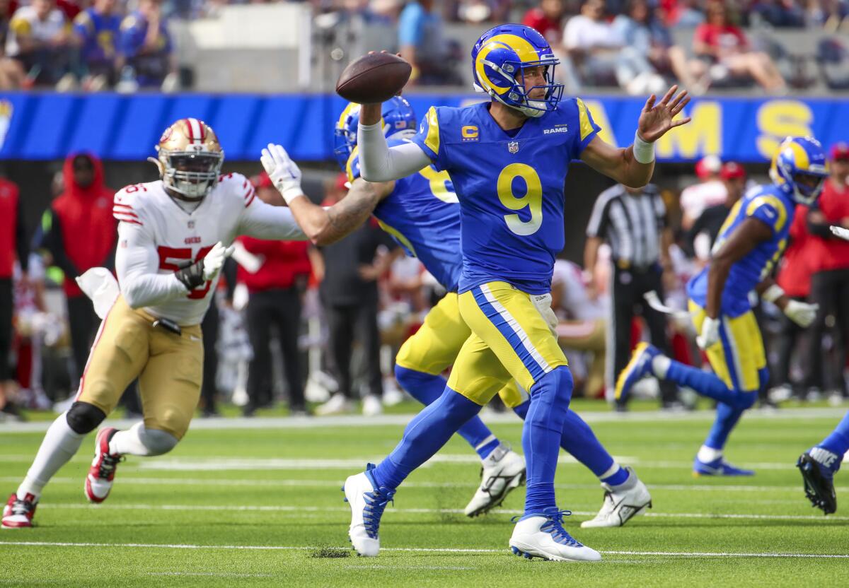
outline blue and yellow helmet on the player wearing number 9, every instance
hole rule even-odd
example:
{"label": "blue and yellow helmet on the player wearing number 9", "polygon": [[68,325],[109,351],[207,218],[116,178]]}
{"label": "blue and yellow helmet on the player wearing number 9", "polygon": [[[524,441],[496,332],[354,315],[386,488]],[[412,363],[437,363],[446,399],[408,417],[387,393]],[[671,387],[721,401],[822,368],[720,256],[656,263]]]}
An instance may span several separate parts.
{"label": "blue and yellow helmet on the player wearing number 9", "polygon": [[[525,25],[493,27],[472,48],[475,90],[527,116],[542,116],[557,107],[563,97],[563,84],[554,83],[554,66],[559,63],[545,37]],[[546,83],[526,90],[526,68],[539,65]],[[537,87],[545,89],[545,97],[529,98]]]}

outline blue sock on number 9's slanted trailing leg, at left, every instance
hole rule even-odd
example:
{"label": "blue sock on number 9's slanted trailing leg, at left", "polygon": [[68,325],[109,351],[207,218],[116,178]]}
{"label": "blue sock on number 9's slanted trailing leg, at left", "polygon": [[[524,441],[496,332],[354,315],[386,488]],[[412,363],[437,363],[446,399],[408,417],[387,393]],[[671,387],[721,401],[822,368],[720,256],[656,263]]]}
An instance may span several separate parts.
{"label": "blue sock on number 9's slanted trailing leg, at left", "polygon": [[415,468],[435,456],[463,423],[480,411],[481,405],[446,387],[438,399],[410,421],[401,443],[372,470],[375,481],[395,490]]}

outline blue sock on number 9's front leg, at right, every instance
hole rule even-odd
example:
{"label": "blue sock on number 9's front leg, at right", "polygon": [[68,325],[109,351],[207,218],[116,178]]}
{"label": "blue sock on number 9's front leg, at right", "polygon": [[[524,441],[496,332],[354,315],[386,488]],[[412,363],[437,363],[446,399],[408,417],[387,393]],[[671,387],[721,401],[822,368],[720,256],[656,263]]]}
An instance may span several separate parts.
{"label": "blue sock on number 9's front leg, at right", "polygon": [[572,374],[565,366],[555,367],[532,387],[531,406],[522,428],[527,464],[526,516],[557,507],[554,472],[573,387]]}

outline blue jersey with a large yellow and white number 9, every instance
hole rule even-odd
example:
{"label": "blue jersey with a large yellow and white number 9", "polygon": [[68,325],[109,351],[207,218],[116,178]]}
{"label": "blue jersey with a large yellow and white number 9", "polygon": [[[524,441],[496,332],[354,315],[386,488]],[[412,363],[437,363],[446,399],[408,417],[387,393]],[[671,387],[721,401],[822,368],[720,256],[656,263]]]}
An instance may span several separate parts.
{"label": "blue jersey with a large yellow and white number 9", "polygon": [[463,226],[459,292],[503,281],[544,294],[564,244],[569,162],[600,129],[576,98],[517,132],[503,131],[489,106],[433,107],[413,142],[454,182]]}

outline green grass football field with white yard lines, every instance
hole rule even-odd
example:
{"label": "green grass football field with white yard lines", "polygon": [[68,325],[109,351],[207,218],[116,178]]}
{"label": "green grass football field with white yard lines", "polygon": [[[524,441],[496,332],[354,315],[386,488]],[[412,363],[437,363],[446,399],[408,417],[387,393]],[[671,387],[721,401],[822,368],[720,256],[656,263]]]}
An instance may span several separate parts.
{"label": "green grass football field with white yard lines", "polygon": [[[0,585],[846,585],[849,478],[839,474],[841,507],[826,518],[805,500],[794,468],[845,410],[744,417],[728,458],[755,468],[751,479],[691,477],[710,412],[584,413],[654,499],[647,516],[624,528],[580,529],[602,491],[591,473],[562,457],[557,493],[559,506],[572,511],[566,529],[602,552],[600,563],[514,557],[510,518],[524,489],[497,512],[465,518],[479,466],[456,437],[387,508],[380,557],[356,557],[340,485],[391,451],[407,417],[198,420],[171,454],[121,464],[112,495],[97,507],[82,493],[92,435],[45,490],[37,527],[0,532]],[[489,420],[520,447],[518,421]],[[3,500],[41,438],[25,426],[0,426]]]}

